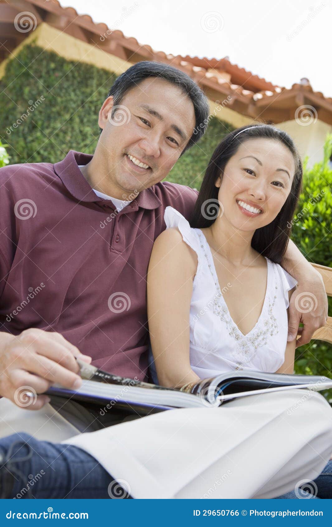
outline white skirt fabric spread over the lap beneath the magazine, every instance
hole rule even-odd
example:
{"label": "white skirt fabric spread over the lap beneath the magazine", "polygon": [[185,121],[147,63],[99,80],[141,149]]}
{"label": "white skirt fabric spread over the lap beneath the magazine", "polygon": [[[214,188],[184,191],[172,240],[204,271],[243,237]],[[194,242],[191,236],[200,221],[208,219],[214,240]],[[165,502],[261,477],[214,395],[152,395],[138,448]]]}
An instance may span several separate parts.
{"label": "white skirt fabric spread over the lap beneath the magazine", "polygon": [[323,470],[332,409],[319,393],[293,389],[174,409],[62,442],[93,455],[136,499],[269,499]]}

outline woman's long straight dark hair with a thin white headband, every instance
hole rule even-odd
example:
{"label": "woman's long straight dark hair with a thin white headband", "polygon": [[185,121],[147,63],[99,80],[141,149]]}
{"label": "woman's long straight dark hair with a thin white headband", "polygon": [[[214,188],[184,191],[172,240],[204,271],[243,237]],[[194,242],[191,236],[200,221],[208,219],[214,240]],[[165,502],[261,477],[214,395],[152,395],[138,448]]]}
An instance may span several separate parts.
{"label": "woman's long straight dark hair with a thin white headband", "polygon": [[[244,130],[244,131],[242,131]],[[239,132],[237,137],[235,137]],[[287,132],[278,130],[269,124],[250,124],[242,126],[226,135],[212,154],[207,166],[202,186],[195,203],[190,227],[202,229],[212,225],[216,217],[209,219],[206,207],[212,205],[218,209],[219,188],[215,186],[219,175],[223,178],[224,170],[229,159],[236,154],[240,144],[248,139],[273,139],[283,143],[293,155],[295,175],[291,184],[289,195],[276,218],[265,227],[260,227],[254,232],[251,247],[261,255],[280,264],[281,258],[287,249],[292,220],[296,210],[299,194],[302,188],[303,167],[298,150]],[[217,209],[216,209],[217,208]],[[204,212],[204,214],[203,214]]]}

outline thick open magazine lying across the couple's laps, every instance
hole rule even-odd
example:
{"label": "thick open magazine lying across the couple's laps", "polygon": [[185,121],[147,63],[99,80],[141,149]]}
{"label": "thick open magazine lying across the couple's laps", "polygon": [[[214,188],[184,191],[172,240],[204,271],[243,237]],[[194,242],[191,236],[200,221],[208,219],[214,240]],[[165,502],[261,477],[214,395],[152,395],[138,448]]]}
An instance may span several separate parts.
{"label": "thick open magazine lying across the couple's laps", "polygon": [[172,408],[215,407],[246,395],[285,389],[307,388],[314,391],[332,388],[332,379],[311,375],[288,375],[237,370],[188,383],[182,388],[166,388],[140,380],[119,377],[77,359],[84,379],[76,391],[54,384],[47,395],[61,396],[103,405],[112,402],[136,413],[165,411]]}

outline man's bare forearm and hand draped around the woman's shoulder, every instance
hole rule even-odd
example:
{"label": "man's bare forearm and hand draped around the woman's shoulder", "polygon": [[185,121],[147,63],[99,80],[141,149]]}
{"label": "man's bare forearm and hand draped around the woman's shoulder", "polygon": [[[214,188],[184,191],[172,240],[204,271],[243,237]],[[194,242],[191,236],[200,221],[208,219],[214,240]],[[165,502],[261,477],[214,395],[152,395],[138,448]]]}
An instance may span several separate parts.
{"label": "man's bare forearm and hand draped around the woman's shoulder", "polygon": [[[294,340],[297,334],[300,334],[296,342],[296,347],[298,347],[307,344],[316,329],[325,326],[328,308],[327,295],[323,278],[291,240],[289,240],[280,265],[298,281],[298,287],[289,301],[287,339]],[[304,328],[299,328],[299,323],[302,323]]]}

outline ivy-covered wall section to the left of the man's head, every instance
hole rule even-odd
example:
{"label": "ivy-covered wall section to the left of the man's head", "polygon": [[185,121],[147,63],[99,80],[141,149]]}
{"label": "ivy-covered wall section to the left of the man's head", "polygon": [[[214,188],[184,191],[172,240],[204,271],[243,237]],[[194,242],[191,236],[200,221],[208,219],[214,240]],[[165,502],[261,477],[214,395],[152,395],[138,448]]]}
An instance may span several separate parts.
{"label": "ivy-covered wall section to the left of the man's head", "polygon": [[0,138],[11,163],[55,163],[70,149],[93,153],[98,112],[115,79],[107,70],[24,46],[0,80]]}

